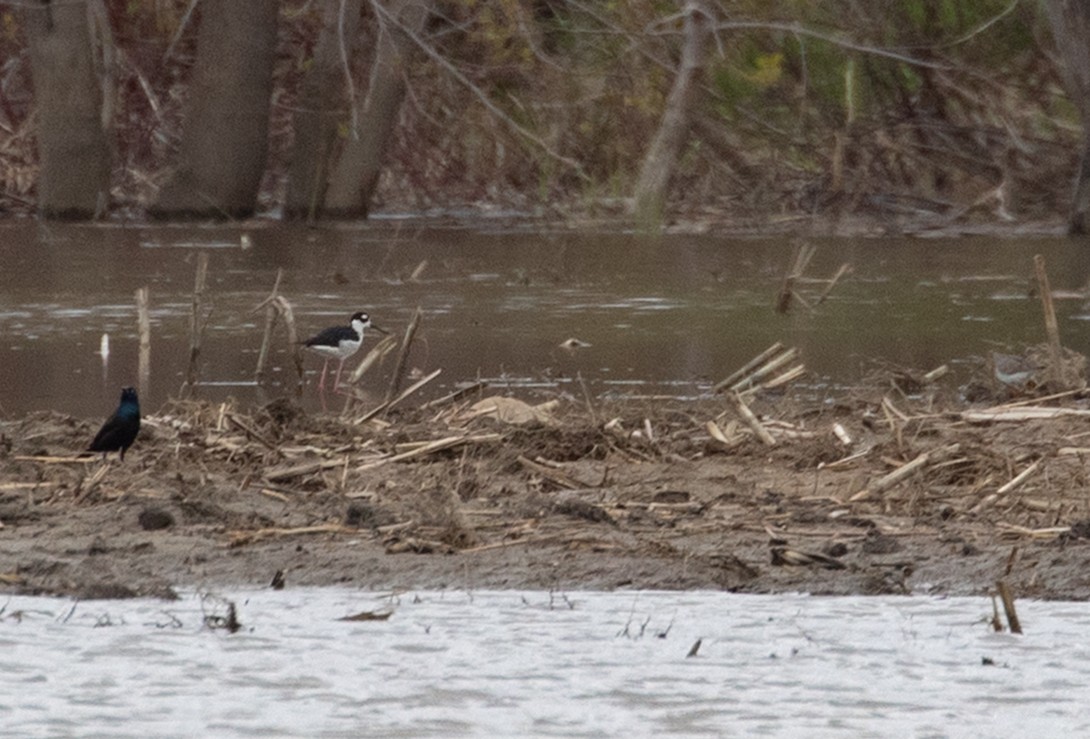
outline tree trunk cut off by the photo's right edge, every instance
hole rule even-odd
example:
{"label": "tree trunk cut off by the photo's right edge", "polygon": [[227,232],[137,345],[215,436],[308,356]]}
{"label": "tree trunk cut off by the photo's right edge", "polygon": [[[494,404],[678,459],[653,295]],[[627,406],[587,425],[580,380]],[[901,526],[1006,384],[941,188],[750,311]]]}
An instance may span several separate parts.
{"label": "tree trunk cut off by the photo's right edge", "polygon": [[1082,159],[1068,230],[1085,234],[1090,229],[1090,0],[1045,0],[1044,8],[1064,60],[1067,94],[1082,117]]}

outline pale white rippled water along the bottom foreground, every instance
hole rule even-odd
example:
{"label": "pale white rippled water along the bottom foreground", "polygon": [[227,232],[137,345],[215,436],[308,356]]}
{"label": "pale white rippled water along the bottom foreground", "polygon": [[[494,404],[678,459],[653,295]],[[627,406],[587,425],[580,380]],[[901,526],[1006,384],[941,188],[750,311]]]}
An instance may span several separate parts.
{"label": "pale white rippled water along the bottom foreground", "polygon": [[[0,601],[19,737],[1090,736],[1090,605],[713,592]],[[384,621],[346,621],[392,610]],[[694,657],[690,649],[701,640]],[[991,663],[991,664],[988,664]]]}

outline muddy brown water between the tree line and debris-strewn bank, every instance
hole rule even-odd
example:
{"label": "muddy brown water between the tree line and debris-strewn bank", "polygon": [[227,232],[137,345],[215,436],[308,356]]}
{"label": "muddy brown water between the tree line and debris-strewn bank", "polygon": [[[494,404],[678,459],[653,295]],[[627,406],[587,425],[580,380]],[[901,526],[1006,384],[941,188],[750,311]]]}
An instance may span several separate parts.
{"label": "muddy brown water between the tree line and debris-strewn bank", "polygon": [[[420,306],[410,364],[443,370],[424,397],[477,378],[521,395],[581,398],[585,384],[595,396],[700,396],[777,340],[801,349],[810,374],[797,387],[815,393],[852,384],[873,361],[965,370],[992,349],[1042,340],[1034,254],[1047,259],[1065,344],[1090,353],[1081,293],[1090,259],[1077,242],[809,241],[818,251],[808,276],[826,278],[843,263],[853,272],[815,311],[797,306],[785,316],[772,304],[795,247],[786,237],[651,238],[393,220],[338,229],[8,223],[0,226],[0,413],[111,410],[118,388],[136,381],[134,291],[142,286],[150,289],[153,335],[144,407],[154,411],[177,395],[201,251],[209,254],[211,313],[199,392],[213,400],[261,400],[293,385],[282,334],[274,380],[261,391],[253,383],[264,320],[254,308],[278,268],[303,336],[358,310],[400,330]],[[800,290],[813,298],[821,287]],[[590,346],[569,353],[559,347],[569,338]],[[303,401],[318,408],[313,385],[322,362],[308,358],[306,367]],[[391,370],[392,358],[362,387],[380,396]]]}

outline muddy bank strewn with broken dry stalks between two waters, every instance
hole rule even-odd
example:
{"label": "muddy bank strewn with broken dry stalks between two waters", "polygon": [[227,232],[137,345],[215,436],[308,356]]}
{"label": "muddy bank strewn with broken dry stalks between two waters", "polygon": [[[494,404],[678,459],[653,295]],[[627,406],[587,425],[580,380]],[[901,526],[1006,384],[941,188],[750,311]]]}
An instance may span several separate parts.
{"label": "muddy bank strewn with broken dry stalks between two waters", "polygon": [[767,437],[718,397],[484,390],[370,420],[190,401],[104,462],[77,456],[100,419],[33,413],[0,422],[0,591],[1090,596],[1085,393],[969,403],[906,377],[749,397]]}

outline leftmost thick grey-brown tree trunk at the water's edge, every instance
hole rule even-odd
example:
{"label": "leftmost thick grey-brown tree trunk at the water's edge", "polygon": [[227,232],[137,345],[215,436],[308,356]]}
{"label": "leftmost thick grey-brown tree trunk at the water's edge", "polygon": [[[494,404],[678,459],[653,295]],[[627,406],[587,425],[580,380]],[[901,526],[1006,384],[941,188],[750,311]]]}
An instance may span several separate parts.
{"label": "leftmost thick grey-brown tree trunk at the water's edge", "polygon": [[34,2],[24,13],[38,105],[38,213],[92,218],[108,205],[110,148],[87,7]]}

